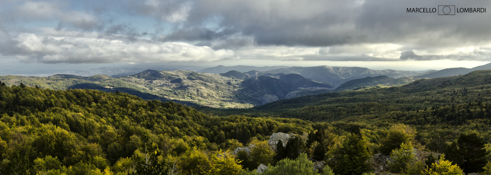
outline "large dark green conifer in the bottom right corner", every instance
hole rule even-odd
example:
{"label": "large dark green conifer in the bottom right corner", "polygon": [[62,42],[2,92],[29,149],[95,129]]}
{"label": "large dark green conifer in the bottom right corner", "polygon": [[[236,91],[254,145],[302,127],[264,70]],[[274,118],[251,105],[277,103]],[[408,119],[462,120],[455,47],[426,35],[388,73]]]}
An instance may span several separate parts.
{"label": "large dark green conifer in the bottom right corner", "polygon": [[476,133],[462,134],[459,137],[459,151],[462,153],[464,162],[461,168],[464,173],[479,173],[484,171],[486,165],[486,149],[484,149],[484,139]]}

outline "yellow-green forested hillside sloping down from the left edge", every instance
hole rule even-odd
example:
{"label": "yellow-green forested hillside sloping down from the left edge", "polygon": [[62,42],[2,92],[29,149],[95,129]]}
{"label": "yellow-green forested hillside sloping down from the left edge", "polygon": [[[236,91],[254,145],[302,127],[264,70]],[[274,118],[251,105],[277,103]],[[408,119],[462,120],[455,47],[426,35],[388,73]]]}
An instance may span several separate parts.
{"label": "yellow-green forested hillside sloping down from the left edge", "polygon": [[23,84],[0,87],[0,114],[0,172],[7,175],[142,175],[150,169],[171,171],[169,163],[182,174],[216,174],[223,161],[238,172],[239,160],[217,154],[264,143],[273,132],[302,134],[313,125],[298,119],[211,117],[126,93]]}

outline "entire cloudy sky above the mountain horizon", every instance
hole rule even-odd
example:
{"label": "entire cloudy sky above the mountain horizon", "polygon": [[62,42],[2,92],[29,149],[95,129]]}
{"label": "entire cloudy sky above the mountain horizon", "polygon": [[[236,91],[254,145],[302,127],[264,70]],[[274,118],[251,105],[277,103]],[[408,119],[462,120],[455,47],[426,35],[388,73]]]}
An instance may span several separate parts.
{"label": "entire cloudy sky above the mountain horizon", "polygon": [[[327,65],[426,70],[491,62],[489,0],[0,3],[1,69]],[[438,5],[487,12],[407,12]]]}

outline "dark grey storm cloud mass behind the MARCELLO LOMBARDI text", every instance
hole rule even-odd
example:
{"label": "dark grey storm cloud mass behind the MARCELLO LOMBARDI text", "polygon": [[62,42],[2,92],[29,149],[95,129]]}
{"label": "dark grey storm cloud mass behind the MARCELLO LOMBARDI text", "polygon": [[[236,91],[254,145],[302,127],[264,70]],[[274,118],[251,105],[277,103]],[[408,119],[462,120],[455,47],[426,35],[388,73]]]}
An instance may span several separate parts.
{"label": "dark grey storm cloud mass behind the MARCELLO LOMBARDI text", "polygon": [[[198,0],[191,3],[192,9],[184,27],[172,32],[167,39],[213,40],[230,35],[195,30],[196,26],[218,16],[221,19],[219,26],[253,37],[259,45],[409,43],[432,47],[490,41],[488,28],[491,23],[487,22],[487,14],[438,16],[406,12],[406,8],[437,8],[442,3],[491,7],[491,2],[486,0]],[[185,35],[190,32],[194,34]]]}

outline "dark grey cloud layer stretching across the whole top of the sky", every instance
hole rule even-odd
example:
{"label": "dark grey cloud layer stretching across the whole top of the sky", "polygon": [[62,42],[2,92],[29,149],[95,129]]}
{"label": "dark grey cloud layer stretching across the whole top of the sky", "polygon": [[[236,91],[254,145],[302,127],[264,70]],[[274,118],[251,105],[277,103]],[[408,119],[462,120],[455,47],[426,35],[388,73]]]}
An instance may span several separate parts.
{"label": "dark grey cloud layer stretching across the whole top of the sky", "polygon": [[[70,2],[64,6],[66,3]],[[84,12],[65,12],[50,2],[26,2],[16,14],[30,19],[58,18],[59,28],[143,36],[143,31],[132,30],[135,27],[130,24],[114,23],[114,16],[104,16],[116,11],[172,23],[175,28],[164,37],[150,32],[155,40],[201,44],[233,35],[253,38],[258,45],[289,46],[409,43],[432,47],[491,40],[486,13],[438,16],[406,12],[406,8],[437,8],[442,3],[491,8],[487,0],[109,0],[104,8]],[[217,28],[210,28],[209,23]]]}

